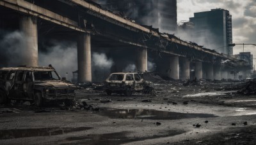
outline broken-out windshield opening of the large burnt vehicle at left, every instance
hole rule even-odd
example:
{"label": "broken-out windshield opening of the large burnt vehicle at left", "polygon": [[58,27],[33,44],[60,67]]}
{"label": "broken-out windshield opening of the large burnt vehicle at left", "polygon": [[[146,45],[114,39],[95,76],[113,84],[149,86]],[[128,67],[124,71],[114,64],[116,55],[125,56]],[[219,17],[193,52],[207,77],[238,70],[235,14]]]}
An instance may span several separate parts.
{"label": "broken-out windshield opening of the large burnt vehicle at left", "polygon": [[35,81],[60,80],[55,71],[33,72]]}

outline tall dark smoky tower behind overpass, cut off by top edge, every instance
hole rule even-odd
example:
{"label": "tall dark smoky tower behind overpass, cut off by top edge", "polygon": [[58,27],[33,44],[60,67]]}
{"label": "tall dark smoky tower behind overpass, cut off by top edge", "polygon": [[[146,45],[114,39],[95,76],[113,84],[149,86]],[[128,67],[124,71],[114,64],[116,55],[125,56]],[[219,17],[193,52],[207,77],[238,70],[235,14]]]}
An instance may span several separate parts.
{"label": "tall dark smoky tower behind overpass, cut off by top edge", "polygon": [[95,0],[102,7],[141,25],[152,25],[160,32],[177,30],[177,0]]}

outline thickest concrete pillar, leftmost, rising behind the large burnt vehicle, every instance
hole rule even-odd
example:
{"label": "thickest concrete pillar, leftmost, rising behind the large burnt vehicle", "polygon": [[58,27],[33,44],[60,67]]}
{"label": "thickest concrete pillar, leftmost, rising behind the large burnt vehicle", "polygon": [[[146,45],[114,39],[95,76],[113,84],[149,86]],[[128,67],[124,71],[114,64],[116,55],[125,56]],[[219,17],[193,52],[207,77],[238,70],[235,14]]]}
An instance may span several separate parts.
{"label": "thickest concrete pillar, leftmost, rising behind the large burnt vehicle", "polygon": [[20,47],[20,65],[38,66],[38,39],[37,39],[37,19],[35,17],[22,15],[20,17],[20,31],[24,36]]}

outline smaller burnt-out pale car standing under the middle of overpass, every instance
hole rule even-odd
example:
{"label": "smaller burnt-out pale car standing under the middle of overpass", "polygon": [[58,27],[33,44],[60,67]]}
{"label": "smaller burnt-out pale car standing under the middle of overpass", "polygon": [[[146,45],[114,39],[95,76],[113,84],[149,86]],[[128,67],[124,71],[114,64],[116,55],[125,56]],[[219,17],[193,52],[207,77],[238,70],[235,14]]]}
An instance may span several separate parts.
{"label": "smaller burnt-out pale car standing under the middle of overpass", "polygon": [[105,81],[106,93],[124,93],[131,96],[133,92],[143,92],[149,88],[149,83],[144,81],[137,72],[116,72],[110,74]]}

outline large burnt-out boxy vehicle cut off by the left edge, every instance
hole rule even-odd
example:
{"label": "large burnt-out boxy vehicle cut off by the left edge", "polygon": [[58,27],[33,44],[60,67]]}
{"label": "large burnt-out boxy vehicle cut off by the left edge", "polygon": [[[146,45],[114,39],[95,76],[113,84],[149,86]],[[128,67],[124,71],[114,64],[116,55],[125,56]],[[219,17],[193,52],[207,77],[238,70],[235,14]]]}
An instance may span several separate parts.
{"label": "large burnt-out boxy vehicle cut off by the left edge", "polygon": [[0,104],[15,99],[43,106],[50,100],[61,100],[70,106],[74,102],[75,89],[75,85],[62,81],[51,66],[0,68]]}

